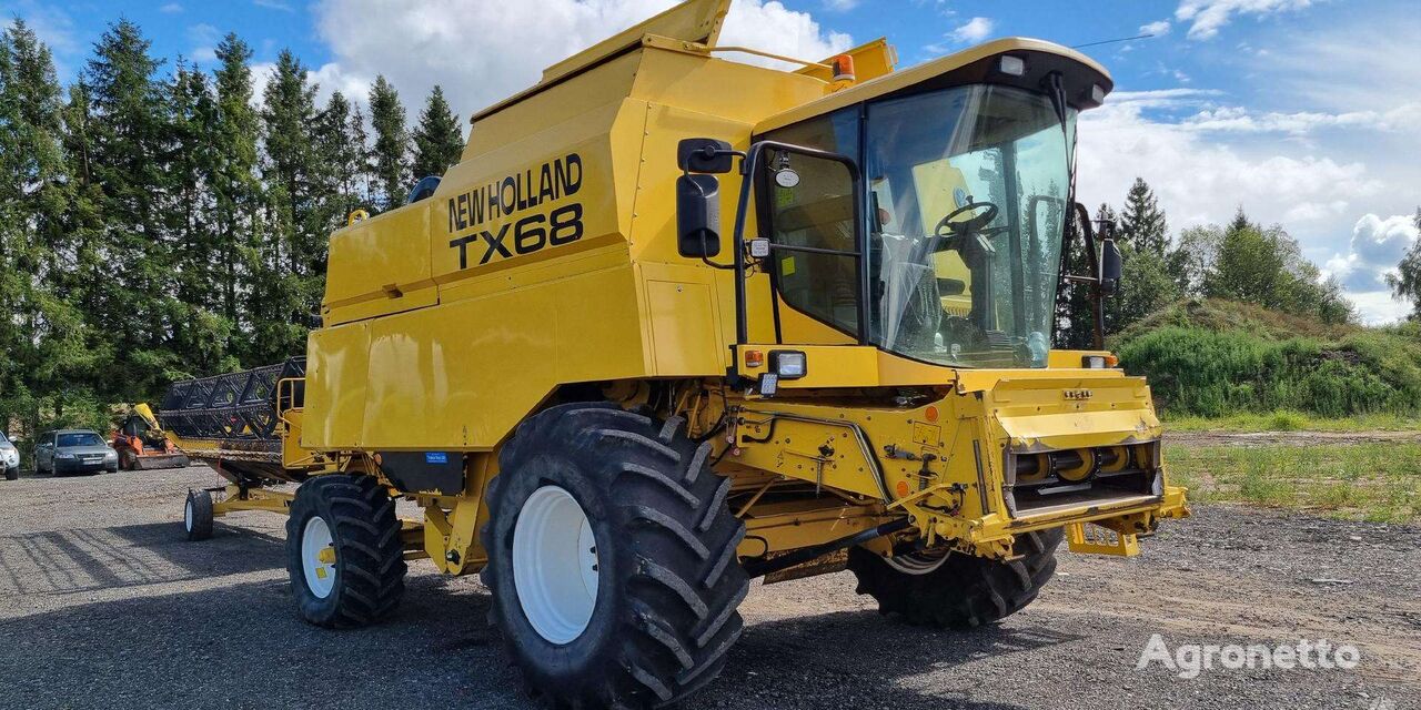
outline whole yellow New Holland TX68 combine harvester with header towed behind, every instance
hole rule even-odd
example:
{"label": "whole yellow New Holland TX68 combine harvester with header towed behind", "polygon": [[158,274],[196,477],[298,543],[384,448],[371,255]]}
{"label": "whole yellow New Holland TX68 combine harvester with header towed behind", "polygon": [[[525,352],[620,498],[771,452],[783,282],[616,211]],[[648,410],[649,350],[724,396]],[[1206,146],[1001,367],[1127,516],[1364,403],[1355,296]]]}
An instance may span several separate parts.
{"label": "whole yellow New Holland TX68 combine harvester with header towed behind", "polygon": [[1118,280],[1073,195],[1106,71],[1020,38],[777,71],[716,47],[728,4],[475,115],[432,195],[331,237],[304,361],[179,383],[166,427],[230,481],[189,534],[286,510],[321,626],[389,613],[406,559],[482,571],[530,687],[644,707],[719,672],[755,577],[847,565],[968,628],[1026,606],[1063,535],[1128,555],[1185,515],[1145,382],[1050,348],[1059,285],[1098,335]]}

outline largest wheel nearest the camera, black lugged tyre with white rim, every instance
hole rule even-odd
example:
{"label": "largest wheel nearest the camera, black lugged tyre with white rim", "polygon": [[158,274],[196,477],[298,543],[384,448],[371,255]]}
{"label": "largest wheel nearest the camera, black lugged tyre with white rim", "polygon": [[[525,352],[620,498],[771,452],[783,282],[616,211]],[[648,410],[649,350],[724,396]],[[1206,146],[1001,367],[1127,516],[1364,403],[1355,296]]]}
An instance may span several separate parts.
{"label": "largest wheel nearest the camera, black lugged tyre with white rim", "polygon": [[745,525],[710,444],[607,403],[519,426],[489,486],[483,584],[530,694],[651,707],[710,682],[740,636]]}

